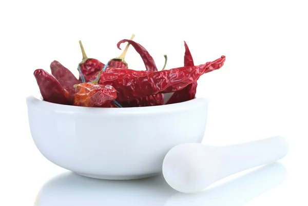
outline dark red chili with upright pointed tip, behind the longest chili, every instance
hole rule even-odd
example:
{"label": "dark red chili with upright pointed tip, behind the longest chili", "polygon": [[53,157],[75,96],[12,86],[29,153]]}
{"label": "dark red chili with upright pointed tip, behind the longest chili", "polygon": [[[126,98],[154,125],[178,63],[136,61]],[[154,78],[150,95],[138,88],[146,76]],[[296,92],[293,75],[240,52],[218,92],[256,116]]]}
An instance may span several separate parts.
{"label": "dark red chili with upright pointed tip, behind the longest chili", "polygon": [[[184,41],[184,46],[185,46],[184,66],[194,66],[194,59],[192,59],[189,48],[185,41]],[[194,81],[193,83],[187,85],[184,89],[176,91],[166,102],[166,105],[188,101],[190,99],[195,98],[197,86],[198,86],[197,81]]]}

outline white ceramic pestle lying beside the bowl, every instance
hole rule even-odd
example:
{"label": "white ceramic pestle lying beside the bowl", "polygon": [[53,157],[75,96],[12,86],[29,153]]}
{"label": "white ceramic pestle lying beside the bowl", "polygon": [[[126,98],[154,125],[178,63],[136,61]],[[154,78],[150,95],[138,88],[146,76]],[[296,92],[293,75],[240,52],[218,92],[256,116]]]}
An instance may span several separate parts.
{"label": "white ceramic pestle lying beside the bowl", "polygon": [[281,159],[287,151],[281,136],[223,147],[182,143],[166,154],[163,175],[179,192],[200,192],[224,177]]}

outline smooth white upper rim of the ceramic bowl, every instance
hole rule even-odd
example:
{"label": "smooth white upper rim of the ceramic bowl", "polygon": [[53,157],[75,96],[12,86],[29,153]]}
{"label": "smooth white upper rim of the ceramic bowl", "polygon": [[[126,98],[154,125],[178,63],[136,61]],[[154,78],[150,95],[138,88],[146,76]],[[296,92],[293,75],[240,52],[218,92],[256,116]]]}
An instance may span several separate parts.
{"label": "smooth white upper rim of the ceramic bowl", "polygon": [[192,107],[204,106],[208,104],[209,98],[198,97],[170,105],[159,105],[149,107],[127,107],[127,108],[94,108],[94,107],[79,107],[73,105],[61,105],[48,101],[44,101],[41,93],[30,94],[26,97],[27,106],[35,106],[44,110],[55,110],[65,113],[162,113],[186,110]]}

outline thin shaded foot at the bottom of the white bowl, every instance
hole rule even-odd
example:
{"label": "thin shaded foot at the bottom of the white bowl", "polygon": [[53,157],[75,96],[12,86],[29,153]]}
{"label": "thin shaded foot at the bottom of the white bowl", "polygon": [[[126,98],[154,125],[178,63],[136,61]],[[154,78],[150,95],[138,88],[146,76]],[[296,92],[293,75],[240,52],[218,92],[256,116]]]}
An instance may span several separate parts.
{"label": "thin shaded foot at the bottom of the white bowl", "polygon": [[153,177],[160,175],[161,173],[150,173],[143,175],[93,175],[93,174],[85,174],[85,173],[76,173],[81,176],[95,178],[95,179],[109,179],[109,180],[130,180],[130,179],[142,179],[147,177]]}

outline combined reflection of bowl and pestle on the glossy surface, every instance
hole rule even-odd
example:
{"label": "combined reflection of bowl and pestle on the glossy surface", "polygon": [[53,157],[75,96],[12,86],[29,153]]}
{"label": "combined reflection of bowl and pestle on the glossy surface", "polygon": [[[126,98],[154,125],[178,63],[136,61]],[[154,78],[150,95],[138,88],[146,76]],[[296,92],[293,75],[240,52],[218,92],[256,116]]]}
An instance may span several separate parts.
{"label": "combined reflection of bowl and pestle on the glossy surface", "polygon": [[285,176],[282,164],[273,163],[203,192],[184,194],[170,188],[162,176],[116,181],[65,173],[45,184],[36,205],[243,205],[278,186]]}

